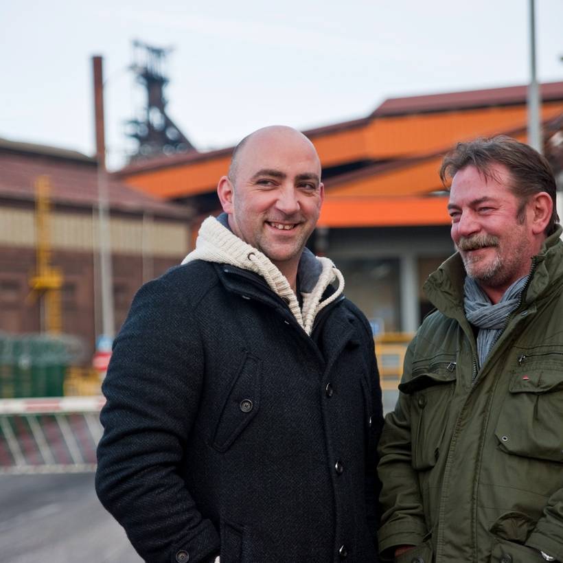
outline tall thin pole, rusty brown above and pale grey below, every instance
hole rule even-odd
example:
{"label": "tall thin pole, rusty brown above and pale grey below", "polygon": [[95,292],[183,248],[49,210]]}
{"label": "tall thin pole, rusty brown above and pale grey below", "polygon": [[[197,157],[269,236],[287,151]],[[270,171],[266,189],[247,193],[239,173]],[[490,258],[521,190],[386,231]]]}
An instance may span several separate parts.
{"label": "tall thin pole, rusty brown above and pale grey below", "polygon": [[108,174],[106,171],[106,141],[104,134],[104,78],[102,57],[93,56],[94,116],[97,159],[97,217],[100,251],[100,290],[102,301],[102,334],[113,339],[113,272],[111,266],[111,237],[109,223]]}

